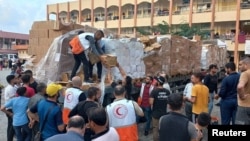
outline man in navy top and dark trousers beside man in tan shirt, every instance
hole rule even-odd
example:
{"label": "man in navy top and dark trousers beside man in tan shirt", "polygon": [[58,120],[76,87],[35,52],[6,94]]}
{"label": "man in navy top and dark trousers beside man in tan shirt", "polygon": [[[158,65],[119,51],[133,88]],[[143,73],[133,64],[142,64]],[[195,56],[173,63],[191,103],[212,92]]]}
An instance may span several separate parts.
{"label": "man in navy top and dark trousers beside man in tan shirt", "polygon": [[235,71],[236,66],[233,62],[227,63],[225,69],[228,76],[222,80],[219,95],[215,95],[215,98],[218,99],[221,97],[221,124],[230,125],[230,122],[235,124],[237,111],[237,85],[240,75]]}

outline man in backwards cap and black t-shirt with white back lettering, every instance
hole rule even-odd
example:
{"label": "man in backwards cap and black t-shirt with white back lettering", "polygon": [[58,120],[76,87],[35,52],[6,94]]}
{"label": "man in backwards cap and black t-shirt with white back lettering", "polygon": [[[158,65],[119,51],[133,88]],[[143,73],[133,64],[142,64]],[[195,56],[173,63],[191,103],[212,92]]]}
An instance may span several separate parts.
{"label": "man in backwards cap and black t-shirt with white back lettering", "polygon": [[151,92],[149,103],[152,108],[153,119],[153,140],[159,140],[159,119],[161,116],[167,114],[167,98],[170,95],[170,91],[163,88],[165,78],[158,76],[156,78],[156,88]]}

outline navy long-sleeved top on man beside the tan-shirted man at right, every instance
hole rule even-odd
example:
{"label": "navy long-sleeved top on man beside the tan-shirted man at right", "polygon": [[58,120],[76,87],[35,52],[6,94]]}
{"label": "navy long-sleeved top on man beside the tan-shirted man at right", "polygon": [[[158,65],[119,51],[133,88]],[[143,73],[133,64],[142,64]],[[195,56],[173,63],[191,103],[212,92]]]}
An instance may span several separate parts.
{"label": "navy long-sleeved top on man beside the tan-shirted man at right", "polygon": [[222,99],[237,99],[237,85],[240,79],[239,73],[231,73],[222,80],[219,96]]}

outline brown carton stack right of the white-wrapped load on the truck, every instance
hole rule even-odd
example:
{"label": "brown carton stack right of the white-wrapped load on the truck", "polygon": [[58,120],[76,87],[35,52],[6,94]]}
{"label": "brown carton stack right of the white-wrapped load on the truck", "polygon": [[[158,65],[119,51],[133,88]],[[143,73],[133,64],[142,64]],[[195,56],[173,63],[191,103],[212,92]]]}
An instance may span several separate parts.
{"label": "brown carton stack right of the white-wrapped load on the truck", "polygon": [[169,76],[186,75],[201,69],[200,41],[191,41],[180,36],[164,38],[161,50],[145,57],[146,74],[165,71]]}

